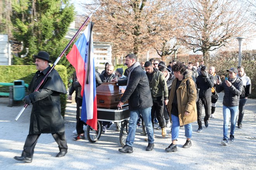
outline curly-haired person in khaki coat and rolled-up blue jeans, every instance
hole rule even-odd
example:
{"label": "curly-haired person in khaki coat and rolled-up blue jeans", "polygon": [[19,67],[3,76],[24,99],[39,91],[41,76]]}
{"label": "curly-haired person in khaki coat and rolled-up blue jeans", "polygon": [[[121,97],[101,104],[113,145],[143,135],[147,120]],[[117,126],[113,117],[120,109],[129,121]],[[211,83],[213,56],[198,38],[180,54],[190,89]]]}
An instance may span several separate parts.
{"label": "curly-haired person in khaki coat and rolled-up blue jeans", "polygon": [[165,150],[168,152],[176,152],[176,142],[179,136],[180,126],[184,125],[185,136],[187,138],[183,148],[192,146],[192,122],[197,120],[197,109],[195,100],[197,91],[195,83],[192,80],[191,71],[181,62],[177,62],[173,66],[174,76],[176,77],[171,85],[170,97],[168,102],[168,110],[172,120],[171,125],[171,145]]}

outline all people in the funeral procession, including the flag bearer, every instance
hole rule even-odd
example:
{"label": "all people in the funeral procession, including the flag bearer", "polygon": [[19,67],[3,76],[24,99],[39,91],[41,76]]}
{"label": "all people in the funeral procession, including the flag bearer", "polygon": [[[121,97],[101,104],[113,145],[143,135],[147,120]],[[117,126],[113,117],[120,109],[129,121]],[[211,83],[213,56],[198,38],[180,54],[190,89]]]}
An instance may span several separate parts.
{"label": "all people in the funeral procession, including the flag bearer", "polygon": [[[44,76],[51,69],[49,54],[40,51],[34,55],[36,69],[38,70],[29,85],[29,95],[23,99],[25,104],[33,104],[30,118],[29,134],[24,144],[21,156],[14,159],[31,163],[34,148],[42,133],[51,133],[59,145],[59,153],[56,157],[65,156],[67,153],[67,142],[64,130],[64,120],[61,116],[60,97],[61,93],[67,93],[64,83],[58,72],[52,70],[38,91],[34,92]],[[183,148],[192,146],[192,122],[197,120],[198,129],[202,128],[202,106],[204,105],[205,116],[204,126],[208,128],[209,118],[214,118],[218,93],[224,91],[223,97],[223,139],[222,145],[228,144],[228,124],[230,126],[230,141],[235,140],[235,124],[238,121],[238,128],[242,128],[244,108],[247,98],[251,94],[251,80],[244,72],[244,67],[227,69],[228,77],[221,82],[220,76],[216,75],[214,66],[209,69],[204,61],[194,64],[189,62],[186,66],[180,61],[171,61],[168,66],[164,61],[150,59],[139,63],[135,54],[128,54],[125,57],[125,71],[118,68],[114,71],[111,63],[105,64],[102,73],[95,71],[96,84],[99,86],[105,82],[116,82],[118,85],[126,86],[119,104],[119,108],[128,100],[130,119],[129,132],[126,138],[126,145],[120,148],[120,152],[132,153],[135,140],[135,131],[140,119],[144,121],[147,132],[148,146],[146,151],[154,148],[154,124],[159,123],[156,129],[162,131],[163,138],[166,136],[166,127],[171,126],[171,144],[165,150],[168,152],[177,151],[177,139],[180,127],[185,128],[187,138]],[[73,92],[76,92],[76,133],[74,140],[85,138],[79,108],[82,104],[81,85],[77,81],[76,73],[73,75],[73,83],[69,90],[68,99],[71,99]],[[199,93],[197,94],[197,92]],[[197,100],[198,99],[198,100]],[[155,120],[156,118],[156,120]],[[112,122],[102,122],[102,131],[106,133]]]}

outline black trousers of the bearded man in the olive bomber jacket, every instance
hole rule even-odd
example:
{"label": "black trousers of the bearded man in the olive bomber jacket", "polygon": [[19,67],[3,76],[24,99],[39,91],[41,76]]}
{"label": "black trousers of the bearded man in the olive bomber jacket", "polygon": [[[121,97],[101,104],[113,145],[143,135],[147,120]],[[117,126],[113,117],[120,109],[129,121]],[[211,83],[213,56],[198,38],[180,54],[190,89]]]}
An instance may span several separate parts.
{"label": "black trousers of the bearded man in the olive bomber jacket", "polygon": [[154,128],[154,113],[156,112],[156,119],[159,122],[161,128],[165,127],[164,124],[164,100],[153,101],[153,106],[151,109],[151,122]]}

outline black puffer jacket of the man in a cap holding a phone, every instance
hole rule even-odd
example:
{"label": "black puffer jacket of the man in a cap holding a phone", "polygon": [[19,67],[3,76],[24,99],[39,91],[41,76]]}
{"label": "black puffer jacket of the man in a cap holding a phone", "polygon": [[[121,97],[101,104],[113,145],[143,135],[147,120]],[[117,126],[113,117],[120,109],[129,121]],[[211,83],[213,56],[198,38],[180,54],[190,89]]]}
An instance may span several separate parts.
{"label": "black puffer jacket of the man in a cap holding a phone", "polygon": [[[229,78],[228,81],[230,81]],[[239,96],[243,90],[243,83],[239,78],[235,77],[235,80],[230,87],[227,86],[225,81],[222,82],[220,85],[216,85],[217,93],[220,93],[222,90],[224,90],[223,105],[229,107],[239,105]]]}

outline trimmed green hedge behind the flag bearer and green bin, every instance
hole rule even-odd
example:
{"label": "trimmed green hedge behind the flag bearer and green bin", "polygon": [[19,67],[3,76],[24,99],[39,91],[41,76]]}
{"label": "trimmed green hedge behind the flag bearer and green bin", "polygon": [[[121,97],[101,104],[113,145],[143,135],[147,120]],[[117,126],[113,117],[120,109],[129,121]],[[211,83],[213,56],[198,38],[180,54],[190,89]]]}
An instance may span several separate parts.
{"label": "trimmed green hedge behind the flag bearer and green bin", "polygon": [[[65,66],[57,65],[54,68],[61,76],[66,88],[67,88],[67,69]],[[29,84],[35,75],[36,66],[0,66],[0,82],[13,83],[14,80],[24,80]],[[9,87],[0,86],[0,92],[9,92]],[[67,95],[61,94],[61,114],[64,116],[66,110]]]}

